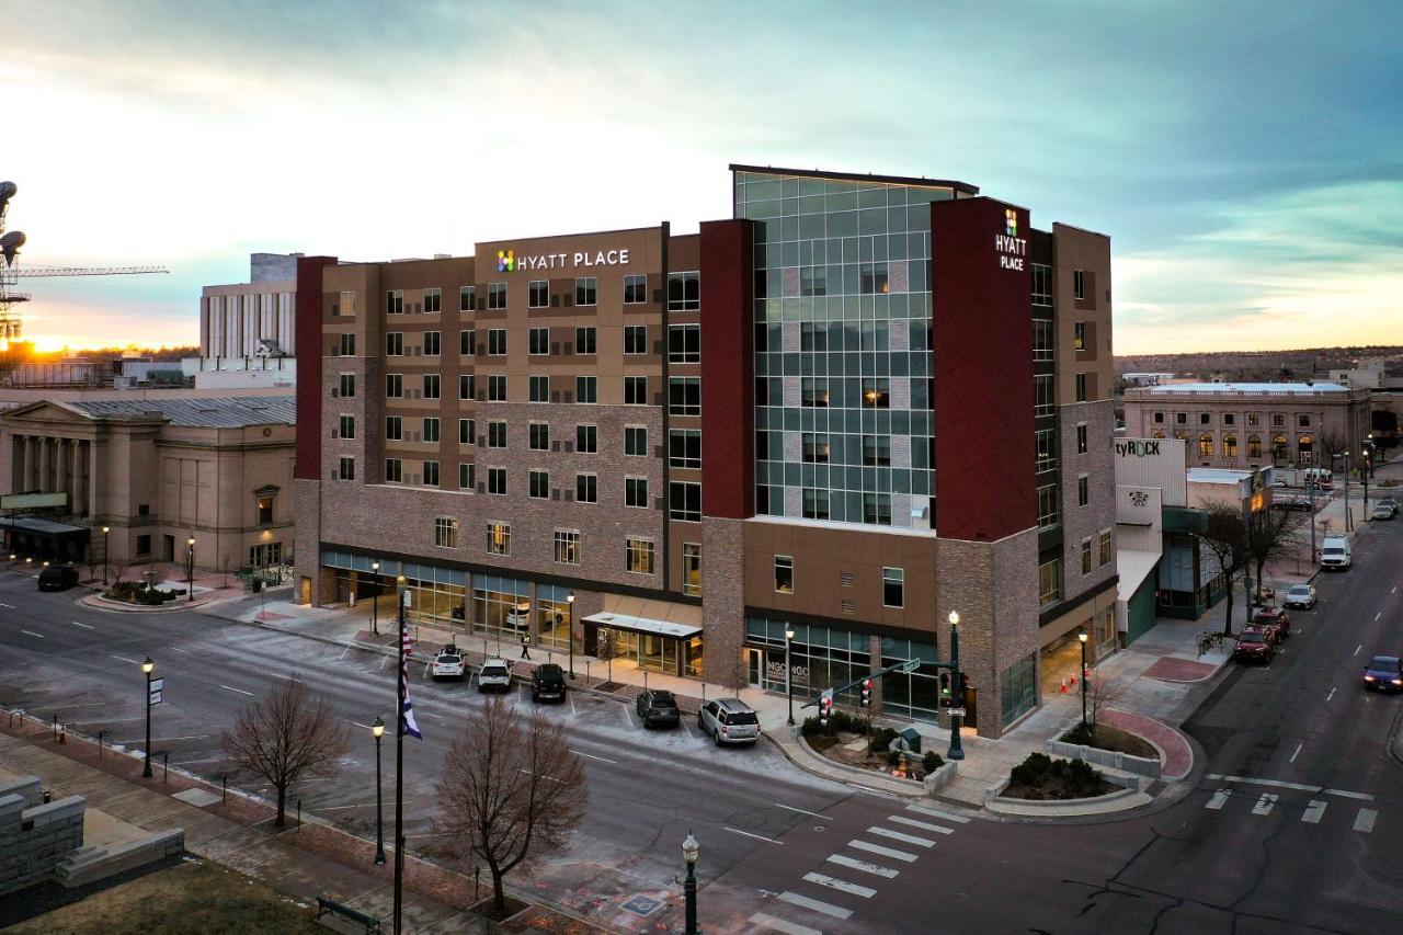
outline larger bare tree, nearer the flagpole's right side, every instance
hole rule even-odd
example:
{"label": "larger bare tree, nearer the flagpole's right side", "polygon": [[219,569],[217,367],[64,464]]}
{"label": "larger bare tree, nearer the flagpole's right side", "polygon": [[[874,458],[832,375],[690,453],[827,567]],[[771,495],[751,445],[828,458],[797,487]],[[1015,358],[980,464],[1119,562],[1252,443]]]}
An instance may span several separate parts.
{"label": "larger bare tree, nearer the flagpole's right side", "polygon": [[443,762],[438,793],[434,830],[459,859],[487,863],[497,913],[506,908],[502,877],[564,847],[589,800],[585,769],[561,724],[540,712],[525,723],[501,698],[469,719]]}

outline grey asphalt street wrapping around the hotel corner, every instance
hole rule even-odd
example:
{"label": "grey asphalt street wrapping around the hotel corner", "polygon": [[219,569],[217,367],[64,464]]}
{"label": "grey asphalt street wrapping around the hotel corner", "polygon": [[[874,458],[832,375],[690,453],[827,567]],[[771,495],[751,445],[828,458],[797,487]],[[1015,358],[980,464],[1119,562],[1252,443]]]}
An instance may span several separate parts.
{"label": "grey asphalt street wrapping around the hotel corner", "polygon": [[[1360,684],[1369,656],[1403,650],[1400,552],[1403,524],[1368,524],[1354,567],[1319,577],[1317,608],[1292,612],[1284,651],[1270,665],[1229,664],[1205,687],[1184,724],[1201,747],[1193,785],[1160,792],[1150,814],[971,820],[811,778],[769,744],[716,750],[694,720],[645,733],[630,706],[574,694],[547,716],[568,724],[584,758],[588,817],[565,855],[512,882],[616,927],[679,925],[675,877],[693,830],[702,924],[716,932],[1403,931],[1403,868],[1390,847],[1403,827],[1403,767],[1388,750],[1403,698]],[[94,611],[77,597],[0,576],[0,702],[139,747],[149,654],[167,679],[153,719],[157,782],[163,754],[217,782],[230,769],[220,730],[272,679],[297,672],[354,724],[354,750],[337,778],[292,800],[373,837],[366,726],[390,720],[393,661],[201,614]],[[434,785],[457,719],[481,696],[473,684],[425,681],[417,658],[425,737],[405,741],[407,835],[435,855]],[[532,709],[521,689],[512,703]],[[384,754],[389,802],[389,736]],[[636,894],[669,906],[630,918],[619,907]]]}

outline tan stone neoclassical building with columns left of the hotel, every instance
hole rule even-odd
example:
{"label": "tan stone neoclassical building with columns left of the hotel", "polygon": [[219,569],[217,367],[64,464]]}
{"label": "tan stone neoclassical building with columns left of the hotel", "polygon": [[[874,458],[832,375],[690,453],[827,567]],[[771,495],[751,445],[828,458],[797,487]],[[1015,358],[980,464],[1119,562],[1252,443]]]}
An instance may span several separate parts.
{"label": "tan stone neoclassical building with columns left of the hotel", "polygon": [[107,549],[121,567],[182,563],[194,536],[199,569],[290,557],[293,397],[119,396],[0,413],[4,493],[59,496],[42,512],[6,517],[8,552],[100,564]]}

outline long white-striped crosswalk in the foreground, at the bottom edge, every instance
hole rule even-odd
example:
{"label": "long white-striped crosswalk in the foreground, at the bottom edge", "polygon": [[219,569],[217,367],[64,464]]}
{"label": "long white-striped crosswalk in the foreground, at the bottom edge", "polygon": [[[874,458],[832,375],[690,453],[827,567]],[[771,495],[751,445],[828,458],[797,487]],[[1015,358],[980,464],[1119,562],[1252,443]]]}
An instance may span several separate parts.
{"label": "long white-striped crosswalk in the foreground, at the bottom edge", "polygon": [[[943,835],[954,834],[968,821],[967,816],[955,811],[909,804],[824,858],[821,868],[804,875],[807,886],[776,894],[769,913],[751,915],[749,922],[755,928],[749,931],[822,935],[814,924],[822,925],[824,918],[847,921],[861,907],[860,900],[877,896],[884,882],[909,870],[912,863],[932,852]],[[791,917],[791,908],[800,913]]]}

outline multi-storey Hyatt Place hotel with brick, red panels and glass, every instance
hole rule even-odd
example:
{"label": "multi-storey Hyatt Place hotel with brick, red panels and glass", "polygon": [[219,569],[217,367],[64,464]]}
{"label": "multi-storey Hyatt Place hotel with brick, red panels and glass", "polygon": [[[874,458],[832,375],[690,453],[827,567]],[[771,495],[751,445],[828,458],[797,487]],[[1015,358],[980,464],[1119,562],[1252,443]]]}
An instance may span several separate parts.
{"label": "multi-storey Hyatt Place hotel with brick, red panels and glass", "polygon": [[958,181],[732,171],[696,234],[300,258],[300,597],[403,574],[504,651],[615,630],[801,698],[920,660],[874,708],[932,722],[958,611],[999,736],[1045,653],[1115,644],[1110,241]]}

